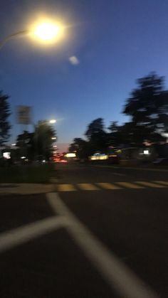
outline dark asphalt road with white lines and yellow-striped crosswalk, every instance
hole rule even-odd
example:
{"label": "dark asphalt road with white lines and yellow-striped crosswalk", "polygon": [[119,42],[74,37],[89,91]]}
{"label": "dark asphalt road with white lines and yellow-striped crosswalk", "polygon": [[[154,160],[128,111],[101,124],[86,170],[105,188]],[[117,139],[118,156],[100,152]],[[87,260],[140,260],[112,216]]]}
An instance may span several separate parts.
{"label": "dark asphalt road with white lines and yellow-striped crosswalk", "polygon": [[51,197],[0,196],[0,297],[168,297],[168,171],[63,164],[56,178]]}

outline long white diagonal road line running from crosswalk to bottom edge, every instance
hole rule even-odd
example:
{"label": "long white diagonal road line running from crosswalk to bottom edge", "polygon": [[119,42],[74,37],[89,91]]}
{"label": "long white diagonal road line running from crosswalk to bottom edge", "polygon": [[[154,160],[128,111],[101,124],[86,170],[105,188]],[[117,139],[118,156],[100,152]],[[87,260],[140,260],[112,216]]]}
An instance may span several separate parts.
{"label": "long white diagonal road line running from crosswalk to bottom edge", "polygon": [[152,292],[129,268],[105,248],[105,245],[61,201],[57,193],[48,193],[48,201],[53,210],[67,218],[68,232],[83,250],[90,262],[95,265],[112,289],[127,298],[156,298]]}

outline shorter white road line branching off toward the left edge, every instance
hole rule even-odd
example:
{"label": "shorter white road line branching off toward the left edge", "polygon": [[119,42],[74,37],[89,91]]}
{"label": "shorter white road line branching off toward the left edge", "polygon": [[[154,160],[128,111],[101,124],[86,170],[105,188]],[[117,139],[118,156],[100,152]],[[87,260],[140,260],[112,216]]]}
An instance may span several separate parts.
{"label": "shorter white road line branching off toward the left edge", "polygon": [[62,228],[65,225],[65,218],[63,216],[53,216],[1,233],[0,252],[14,248],[36,237],[50,233],[52,230]]}

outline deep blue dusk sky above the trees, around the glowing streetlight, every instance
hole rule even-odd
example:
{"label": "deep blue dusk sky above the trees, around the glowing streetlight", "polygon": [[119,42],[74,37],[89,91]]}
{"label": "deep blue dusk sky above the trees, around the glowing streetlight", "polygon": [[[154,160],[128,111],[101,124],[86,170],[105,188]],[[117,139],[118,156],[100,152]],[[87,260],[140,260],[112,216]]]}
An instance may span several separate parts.
{"label": "deep blue dusk sky above the trees, around the glowing streetlight", "polygon": [[[0,51],[13,134],[16,105],[32,105],[34,122],[58,119],[59,142],[71,142],[97,117],[125,122],[122,106],[135,79],[153,70],[167,77],[167,0],[1,0],[1,38],[44,11],[70,25],[63,42],[43,47],[25,37]],[[73,55],[80,64],[70,64]]]}

